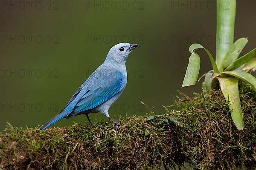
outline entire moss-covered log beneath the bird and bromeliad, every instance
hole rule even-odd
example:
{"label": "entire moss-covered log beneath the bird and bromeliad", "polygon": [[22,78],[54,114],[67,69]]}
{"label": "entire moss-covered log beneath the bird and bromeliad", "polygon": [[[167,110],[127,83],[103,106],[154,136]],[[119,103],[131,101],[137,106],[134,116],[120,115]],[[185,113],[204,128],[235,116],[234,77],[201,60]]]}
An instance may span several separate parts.
{"label": "entire moss-covered log beneath the bird and bromeliad", "polygon": [[[185,97],[164,116],[69,127],[17,128],[0,134],[0,167],[20,169],[159,169],[191,163],[198,169],[256,167],[256,93],[240,88],[244,130],[234,126],[221,91]],[[176,117],[183,126],[167,121]]]}

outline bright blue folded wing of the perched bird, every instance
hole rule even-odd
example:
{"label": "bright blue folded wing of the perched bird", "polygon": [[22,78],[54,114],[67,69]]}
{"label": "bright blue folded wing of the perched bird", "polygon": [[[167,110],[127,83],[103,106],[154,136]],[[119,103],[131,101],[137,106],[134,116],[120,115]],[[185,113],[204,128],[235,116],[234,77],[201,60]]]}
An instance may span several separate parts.
{"label": "bright blue folded wing of the perched bird", "polygon": [[123,74],[116,71],[101,79],[100,83],[95,82],[99,85],[93,85],[93,87],[87,89],[87,92],[76,103],[73,113],[68,117],[93,109],[111,99],[124,88],[123,80]]}

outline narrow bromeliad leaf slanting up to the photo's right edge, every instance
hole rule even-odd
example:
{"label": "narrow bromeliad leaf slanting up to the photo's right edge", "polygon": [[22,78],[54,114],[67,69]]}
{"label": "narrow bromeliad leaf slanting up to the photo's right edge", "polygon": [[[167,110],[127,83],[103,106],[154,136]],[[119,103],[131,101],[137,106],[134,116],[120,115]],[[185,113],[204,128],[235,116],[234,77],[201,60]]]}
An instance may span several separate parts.
{"label": "narrow bromeliad leaf slanting up to the photo's right edge", "polygon": [[252,51],[248,52],[244,56],[240,57],[239,59],[236,59],[234,62],[232,62],[226,69],[225,71],[230,71],[235,68],[238,68],[239,66],[249,62],[250,60],[253,59],[254,54],[255,54],[256,48],[254,48]]}

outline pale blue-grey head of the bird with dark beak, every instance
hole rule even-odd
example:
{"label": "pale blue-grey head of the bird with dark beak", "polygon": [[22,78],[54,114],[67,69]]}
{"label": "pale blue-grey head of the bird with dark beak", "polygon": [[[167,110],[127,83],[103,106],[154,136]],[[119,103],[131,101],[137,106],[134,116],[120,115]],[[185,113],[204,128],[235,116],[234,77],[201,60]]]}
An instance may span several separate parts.
{"label": "pale blue-grey head of the bird with dark beak", "polygon": [[139,45],[137,45],[137,44],[130,44],[130,43],[127,43],[127,42],[116,44],[108,52],[108,56],[106,58],[106,61],[125,63],[128,55],[137,46],[139,46]]}

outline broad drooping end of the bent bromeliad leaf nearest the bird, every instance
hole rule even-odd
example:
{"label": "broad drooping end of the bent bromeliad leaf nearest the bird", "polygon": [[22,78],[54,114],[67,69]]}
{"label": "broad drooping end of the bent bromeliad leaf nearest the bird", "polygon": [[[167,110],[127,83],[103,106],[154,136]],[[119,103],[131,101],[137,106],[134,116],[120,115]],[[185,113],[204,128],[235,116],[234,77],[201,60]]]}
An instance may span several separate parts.
{"label": "broad drooping end of the bent bromeliad leaf nearest the bird", "polygon": [[200,69],[200,57],[196,53],[192,53],[189,57],[189,64],[182,83],[182,88],[189,85],[195,85]]}

